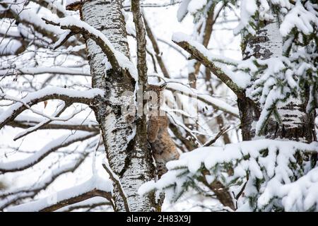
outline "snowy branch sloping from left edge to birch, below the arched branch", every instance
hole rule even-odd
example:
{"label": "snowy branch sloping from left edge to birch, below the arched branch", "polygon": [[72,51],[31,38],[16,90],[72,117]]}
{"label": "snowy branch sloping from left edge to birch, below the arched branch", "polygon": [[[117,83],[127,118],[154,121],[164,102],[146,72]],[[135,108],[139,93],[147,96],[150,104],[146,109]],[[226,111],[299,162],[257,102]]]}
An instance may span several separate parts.
{"label": "snowy branch sloping from left edge to birch, below the arched branch", "polygon": [[43,148],[37,151],[35,154],[27,157],[23,160],[16,160],[13,162],[0,162],[0,172],[16,172],[23,169],[28,169],[33,165],[40,162],[50,153],[58,150],[59,148],[64,148],[72,143],[78,141],[84,141],[88,138],[96,136],[98,133],[90,133],[86,131],[76,131],[74,134],[65,134],[59,138],[54,139],[53,141],[47,143]]}

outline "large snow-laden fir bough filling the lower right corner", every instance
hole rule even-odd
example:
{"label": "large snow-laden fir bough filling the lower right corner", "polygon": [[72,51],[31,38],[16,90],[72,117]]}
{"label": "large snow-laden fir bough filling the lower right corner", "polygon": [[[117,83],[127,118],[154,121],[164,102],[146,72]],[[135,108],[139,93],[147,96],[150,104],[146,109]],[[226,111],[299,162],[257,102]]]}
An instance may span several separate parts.
{"label": "large snow-laden fir bough filling the lower right corner", "polygon": [[[205,177],[208,182],[218,179],[233,191],[245,184],[241,187],[245,193],[243,201],[249,205],[249,201],[257,200],[256,206],[250,206],[250,210],[266,210],[267,207],[271,210],[275,205],[285,210],[317,210],[318,179],[314,177],[317,169],[307,172],[310,161],[303,162],[302,167],[295,164],[297,156],[317,151],[317,142],[307,144],[266,139],[228,144],[224,148],[197,148],[182,154],[179,160],[167,162],[169,171],[158,182],[143,184],[139,194],[164,191],[166,198],[176,201],[184,191],[195,187]],[[282,203],[275,201],[279,197],[283,198]]]}

